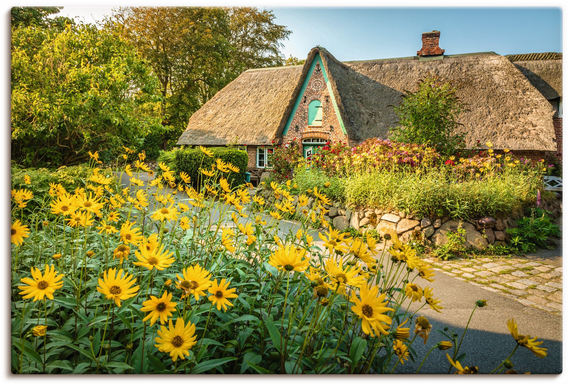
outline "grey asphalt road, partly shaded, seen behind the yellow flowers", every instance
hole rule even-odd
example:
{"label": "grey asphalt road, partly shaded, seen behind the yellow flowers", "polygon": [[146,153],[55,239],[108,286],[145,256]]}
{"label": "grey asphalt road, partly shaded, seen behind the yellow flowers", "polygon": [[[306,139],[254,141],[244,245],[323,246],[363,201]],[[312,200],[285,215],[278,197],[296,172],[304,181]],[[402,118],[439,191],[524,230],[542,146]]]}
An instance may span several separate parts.
{"label": "grey asphalt road, partly shaded, seen behind the yellow flowers", "polygon": [[[123,174],[121,179],[123,185],[129,184],[128,179],[127,175]],[[148,177],[146,174],[141,174],[141,179],[147,180]],[[172,190],[164,189],[162,193],[169,191]],[[149,190],[149,193],[152,192],[156,192],[155,187]],[[175,198],[183,201],[188,197],[184,192],[178,192]],[[298,223],[283,220],[279,225],[278,234],[283,236],[289,230],[296,232],[299,227]],[[315,240],[318,240],[318,231],[314,230],[313,234]],[[317,241],[316,244],[321,245],[321,241]],[[539,255],[531,257],[540,258]],[[555,259],[560,264],[559,256],[547,255],[545,258]],[[510,335],[506,323],[509,318],[514,318],[518,322],[519,333],[530,334],[532,337],[538,335],[539,341],[544,341],[541,347],[547,349],[547,357],[538,358],[529,350],[520,347],[512,357],[514,369],[521,373],[531,372],[532,374],[559,374],[562,371],[562,317],[545,310],[524,306],[512,298],[490,292],[440,272],[436,273],[434,282],[426,283],[428,282],[423,281],[422,286],[433,288],[435,297],[442,300],[440,305],[444,306],[443,312],[437,313],[428,307],[419,310],[417,314],[427,317],[433,330],[427,345],[423,345],[419,338],[413,343],[413,348],[420,358],[419,362],[407,361],[403,365],[399,364],[396,372],[414,373],[428,349],[436,342],[446,339],[437,333],[436,329],[443,330],[443,327],[448,326],[451,330],[455,328],[455,333],[459,336],[462,335],[475,302],[481,299],[485,299],[488,306],[476,310],[460,349],[461,352],[467,353],[463,361],[465,366],[478,366],[480,373],[489,373],[508,357],[516,346],[516,342]],[[412,312],[420,306],[418,302],[413,305],[415,307],[411,306]],[[423,364],[420,374],[446,374],[450,366],[446,353],[451,351],[433,350]]]}

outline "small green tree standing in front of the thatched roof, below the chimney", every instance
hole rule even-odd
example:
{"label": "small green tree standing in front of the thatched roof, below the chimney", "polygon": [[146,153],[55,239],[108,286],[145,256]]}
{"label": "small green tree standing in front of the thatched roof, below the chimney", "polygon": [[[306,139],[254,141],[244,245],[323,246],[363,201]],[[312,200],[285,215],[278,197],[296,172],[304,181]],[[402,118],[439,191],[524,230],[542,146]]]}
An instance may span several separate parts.
{"label": "small green tree standing in front of the thatched roof, below the chimney", "polygon": [[443,81],[439,76],[427,76],[418,81],[417,92],[407,95],[394,107],[399,126],[391,129],[391,140],[427,144],[440,154],[450,155],[464,148],[465,134],[457,117],[464,104],[456,96],[461,88],[454,81]]}

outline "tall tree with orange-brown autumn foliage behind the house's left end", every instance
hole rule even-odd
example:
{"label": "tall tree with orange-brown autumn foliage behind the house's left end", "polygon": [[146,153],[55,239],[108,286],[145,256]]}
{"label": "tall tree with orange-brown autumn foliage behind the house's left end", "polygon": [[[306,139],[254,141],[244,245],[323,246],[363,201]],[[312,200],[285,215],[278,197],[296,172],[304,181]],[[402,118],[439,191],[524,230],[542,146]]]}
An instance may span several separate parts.
{"label": "tall tree with orange-brown autumn foliage behind the house's left end", "polygon": [[[145,140],[147,153],[174,145],[189,117],[248,68],[282,65],[280,40],[291,33],[271,11],[251,7],[126,7],[109,21],[147,59],[160,80],[166,134]],[[152,148],[149,146],[152,145]]]}

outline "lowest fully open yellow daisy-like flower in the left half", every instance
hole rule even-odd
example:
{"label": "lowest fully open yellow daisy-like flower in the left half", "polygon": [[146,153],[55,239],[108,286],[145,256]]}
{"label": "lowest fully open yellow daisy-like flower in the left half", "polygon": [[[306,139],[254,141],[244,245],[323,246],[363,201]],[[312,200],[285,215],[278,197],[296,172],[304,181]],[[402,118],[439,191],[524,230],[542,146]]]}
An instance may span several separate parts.
{"label": "lowest fully open yellow daisy-like flower in the left half", "polygon": [[196,345],[196,325],[189,322],[184,325],[184,320],[179,317],[176,320],[176,326],[172,320],[168,321],[168,328],[160,326],[158,330],[159,337],[154,338],[156,343],[154,346],[158,347],[159,351],[164,351],[170,354],[172,362],[176,362],[178,357],[185,359],[189,355],[189,349]]}

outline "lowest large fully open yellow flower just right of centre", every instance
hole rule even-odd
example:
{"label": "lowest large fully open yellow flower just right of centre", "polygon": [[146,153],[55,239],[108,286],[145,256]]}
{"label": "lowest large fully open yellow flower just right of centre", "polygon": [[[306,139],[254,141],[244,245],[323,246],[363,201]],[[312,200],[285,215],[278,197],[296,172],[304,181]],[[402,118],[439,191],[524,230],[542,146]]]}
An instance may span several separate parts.
{"label": "lowest large fully open yellow flower just right of centre", "polygon": [[[360,289],[360,298],[352,293],[352,312],[356,313],[361,318],[361,329],[365,334],[375,337],[374,331],[379,334],[387,335],[387,328],[391,324],[391,317],[383,314],[385,312],[393,312],[393,309],[387,308],[387,301],[385,301],[386,293],[378,296],[379,286],[368,288],[367,285],[362,285]],[[385,302],[384,302],[385,301]],[[373,329],[373,330],[372,330]]]}

